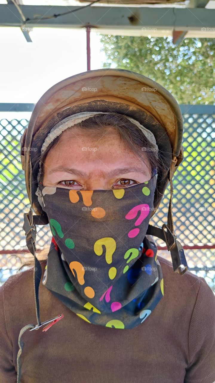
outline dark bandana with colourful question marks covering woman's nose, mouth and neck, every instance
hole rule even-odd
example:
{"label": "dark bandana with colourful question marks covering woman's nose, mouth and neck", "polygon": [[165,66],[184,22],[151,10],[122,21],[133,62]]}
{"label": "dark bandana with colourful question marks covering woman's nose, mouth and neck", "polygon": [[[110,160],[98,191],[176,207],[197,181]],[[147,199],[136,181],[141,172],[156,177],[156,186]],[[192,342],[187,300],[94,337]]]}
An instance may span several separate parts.
{"label": "dark bandana with colourful question marks covering woman's nose, mouth and neck", "polygon": [[39,185],[53,234],[42,283],[88,323],[136,327],[163,297],[157,248],[145,236],[156,180],[119,190]]}

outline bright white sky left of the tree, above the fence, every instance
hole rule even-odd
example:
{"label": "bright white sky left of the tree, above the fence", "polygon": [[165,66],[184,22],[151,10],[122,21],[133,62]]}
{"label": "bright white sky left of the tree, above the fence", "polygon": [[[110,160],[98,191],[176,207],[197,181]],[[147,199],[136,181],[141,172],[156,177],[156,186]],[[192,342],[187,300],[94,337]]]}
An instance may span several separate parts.
{"label": "bright white sky left of the tree, above the fence", "polygon": [[[0,27],[0,103],[36,103],[55,83],[87,70],[85,28],[33,28],[29,34],[33,43],[18,27]],[[105,61],[99,39],[91,31],[91,69]]]}

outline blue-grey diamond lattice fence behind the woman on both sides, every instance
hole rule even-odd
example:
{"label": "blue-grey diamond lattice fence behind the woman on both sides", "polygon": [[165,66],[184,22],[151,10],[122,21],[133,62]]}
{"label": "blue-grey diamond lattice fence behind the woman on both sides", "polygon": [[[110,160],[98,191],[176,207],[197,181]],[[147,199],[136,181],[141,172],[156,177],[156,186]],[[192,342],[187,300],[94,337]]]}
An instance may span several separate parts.
{"label": "blue-grey diamond lattice fence behind the woman on both sides", "polygon": [[[182,105],[181,110],[184,160],[173,177],[174,228],[189,270],[205,278],[215,292],[215,110],[211,105]],[[0,119],[0,284],[32,257],[22,252],[23,213],[29,211],[29,200],[20,137],[27,126],[26,118]],[[150,224],[161,227],[167,222],[168,205],[169,187]],[[37,226],[37,249],[48,248],[51,237],[48,225]],[[170,252],[162,250],[165,244],[154,239],[158,255],[171,260]]]}

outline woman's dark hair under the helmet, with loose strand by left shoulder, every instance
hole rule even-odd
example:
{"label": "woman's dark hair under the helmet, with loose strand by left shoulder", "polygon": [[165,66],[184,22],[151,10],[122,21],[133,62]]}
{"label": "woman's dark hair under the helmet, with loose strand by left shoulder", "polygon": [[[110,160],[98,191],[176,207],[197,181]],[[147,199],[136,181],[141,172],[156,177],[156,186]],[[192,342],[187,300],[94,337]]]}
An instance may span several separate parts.
{"label": "woman's dark hair under the helmet, with loose strand by left shoulder", "polygon": [[[151,167],[151,176],[153,175],[154,169],[157,169],[157,172],[159,172],[159,170],[161,170],[161,168],[163,167],[162,153],[159,151],[158,157],[156,157],[155,147],[153,146],[153,144],[151,144],[151,142],[148,141],[148,139],[144,136],[142,131],[135,124],[131,123],[129,119],[127,119],[123,115],[120,115],[119,113],[112,112],[109,114],[95,115],[93,117],[85,119],[84,121],[81,121],[75,126],[79,127],[83,132],[88,133],[94,138],[98,139],[101,139],[103,135],[107,133],[108,127],[114,128],[119,134],[121,141],[127,144],[129,148],[142,159],[143,163],[145,163],[145,156],[143,155],[143,153],[146,154],[146,157]],[[72,126],[71,128],[67,128],[67,130],[72,130],[73,128],[74,127]],[[38,167],[39,162],[41,162],[41,172],[39,178],[40,182],[42,182],[44,177],[44,162],[46,160],[46,156],[49,153],[49,151],[60,141],[60,137],[61,135],[56,137],[50,143],[50,145],[42,153],[41,157],[39,157],[37,159],[37,162],[34,164],[33,171]],[[46,248],[39,252],[37,257],[40,262],[44,262],[47,259],[48,250],[49,249]],[[33,264],[34,259],[29,260],[20,267],[19,271],[23,267],[33,266]]]}

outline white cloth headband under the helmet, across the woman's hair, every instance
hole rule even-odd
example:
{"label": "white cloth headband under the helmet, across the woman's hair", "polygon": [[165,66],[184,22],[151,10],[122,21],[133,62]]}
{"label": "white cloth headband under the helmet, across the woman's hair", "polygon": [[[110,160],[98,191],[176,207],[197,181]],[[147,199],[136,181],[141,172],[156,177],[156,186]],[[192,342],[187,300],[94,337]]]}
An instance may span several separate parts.
{"label": "white cloth headband under the helmet, across the woman's hair", "polygon": [[[50,145],[50,143],[60,134],[65,131],[67,128],[70,128],[71,126],[74,126],[78,124],[81,121],[84,121],[87,118],[90,118],[94,115],[100,115],[100,114],[105,114],[108,115],[111,112],[81,112],[81,113],[76,113],[75,115],[68,116],[67,118],[64,118],[62,121],[57,123],[53,128],[50,130],[50,133],[47,135],[44,143],[42,144],[41,147],[41,153],[43,153],[46,148]],[[120,115],[120,113],[118,113]],[[136,121],[134,118],[131,118],[129,116],[123,115],[125,118],[129,119],[130,122],[135,124],[144,134],[144,136],[148,139],[151,144],[154,146],[154,152],[158,153],[158,146],[156,144],[156,139],[154,134],[145,128],[143,125],[141,125],[138,121]]]}

